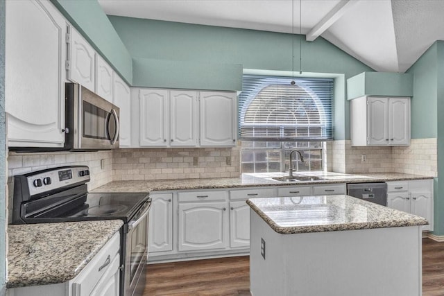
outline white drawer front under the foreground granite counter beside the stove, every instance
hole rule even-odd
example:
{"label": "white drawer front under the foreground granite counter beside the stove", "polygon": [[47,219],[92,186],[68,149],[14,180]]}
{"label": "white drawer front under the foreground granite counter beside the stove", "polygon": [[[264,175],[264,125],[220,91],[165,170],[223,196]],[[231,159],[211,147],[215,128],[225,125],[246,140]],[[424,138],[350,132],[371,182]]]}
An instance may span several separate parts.
{"label": "white drawer front under the foreground granite counter beside the stove", "polygon": [[112,265],[110,263],[114,261],[116,256],[119,256],[119,247],[120,232],[117,232],[112,236],[110,241],[102,247],[99,253],[94,256],[92,261],[87,264],[85,269],[73,279],[71,286],[74,295],[90,295],[94,286],[96,286],[106,270]]}

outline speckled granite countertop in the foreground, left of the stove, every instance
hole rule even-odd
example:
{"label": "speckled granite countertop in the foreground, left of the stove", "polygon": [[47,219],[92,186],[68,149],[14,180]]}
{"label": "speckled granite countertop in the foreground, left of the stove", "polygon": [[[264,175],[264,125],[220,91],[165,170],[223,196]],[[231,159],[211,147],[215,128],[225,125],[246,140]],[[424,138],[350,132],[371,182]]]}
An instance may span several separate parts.
{"label": "speckled granite countertop in the foreground, left of the stove", "polygon": [[122,225],[122,220],[8,225],[6,288],[74,279]]}

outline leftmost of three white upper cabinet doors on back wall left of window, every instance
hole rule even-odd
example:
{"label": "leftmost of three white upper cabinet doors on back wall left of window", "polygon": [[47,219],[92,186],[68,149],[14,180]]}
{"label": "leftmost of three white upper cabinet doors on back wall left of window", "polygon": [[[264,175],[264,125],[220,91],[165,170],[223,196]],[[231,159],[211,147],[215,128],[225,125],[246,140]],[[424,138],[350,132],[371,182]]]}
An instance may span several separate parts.
{"label": "leftmost of three white upper cabinet doors on back wall left of window", "polygon": [[166,147],[168,127],[168,91],[140,89],[140,146]]}

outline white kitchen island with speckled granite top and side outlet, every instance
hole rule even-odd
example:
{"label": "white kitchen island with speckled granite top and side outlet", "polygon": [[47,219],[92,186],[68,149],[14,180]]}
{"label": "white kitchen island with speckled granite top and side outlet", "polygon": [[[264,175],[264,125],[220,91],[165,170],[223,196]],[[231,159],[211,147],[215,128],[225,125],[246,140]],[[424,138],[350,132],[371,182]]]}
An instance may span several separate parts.
{"label": "white kitchen island with speckled granite top and side outlet", "polygon": [[253,295],[421,295],[424,218],[348,195],[247,203]]}

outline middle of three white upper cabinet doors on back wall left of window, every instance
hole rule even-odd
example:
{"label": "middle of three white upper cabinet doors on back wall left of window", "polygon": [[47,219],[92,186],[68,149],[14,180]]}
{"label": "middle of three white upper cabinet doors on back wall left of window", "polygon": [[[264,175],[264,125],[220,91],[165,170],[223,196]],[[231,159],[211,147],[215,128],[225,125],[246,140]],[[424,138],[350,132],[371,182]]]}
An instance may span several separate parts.
{"label": "middle of three white upper cabinet doors on back wall left of window", "polygon": [[197,92],[170,92],[170,146],[196,146]]}

